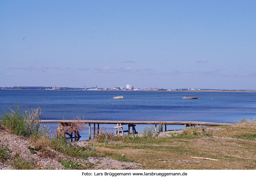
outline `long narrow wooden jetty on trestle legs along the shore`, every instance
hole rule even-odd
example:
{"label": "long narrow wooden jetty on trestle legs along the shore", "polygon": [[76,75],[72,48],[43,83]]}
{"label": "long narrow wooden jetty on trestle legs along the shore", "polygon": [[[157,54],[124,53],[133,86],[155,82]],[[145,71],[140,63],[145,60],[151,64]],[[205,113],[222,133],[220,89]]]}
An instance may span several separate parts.
{"label": "long narrow wooden jetty on trestle legs along the shore", "polygon": [[[57,136],[68,135],[70,138],[81,137],[77,128],[77,124],[89,125],[89,139],[91,139],[91,124],[93,124],[93,135],[99,134],[99,124],[116,124],[115,135],[122,136],[125,132],[128,134],[138,132],[135,129],[136,124],[151,124],[155,125],[155,132],[157,132],[157,125],[161,126],[161,132],[163,132],[163,125],[165,125],[165,131],[167,131],[167,125],[180,124],[184,125],[185,129],[189,126],[204,125],[204,126],[217,126],[217,125],[232,125],[232,123],[221,122],[202,122],[202,121],[113,121],[113,120],[41,120],[41,123],[58,123]],[[123,125],[128,125],[128,130],[123,130]],[[130,131],[132,127],[132,132]],[[121,131],[120,131],[121,130]],[[69,133],[68,133],[69,132]],[[74,137],[73,137],[74,133]]]}

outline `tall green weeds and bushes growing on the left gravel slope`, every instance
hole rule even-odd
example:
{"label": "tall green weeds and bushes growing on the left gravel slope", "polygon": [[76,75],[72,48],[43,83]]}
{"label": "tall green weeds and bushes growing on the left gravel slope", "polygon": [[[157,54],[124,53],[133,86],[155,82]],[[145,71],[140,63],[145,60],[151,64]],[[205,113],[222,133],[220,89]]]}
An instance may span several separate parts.
{"label": "tall green weeds and bushes growing on the left gravel slope", "polygon": [[[62,136],[62,138],[52,136],[49,127],[40,125],[42,113],[40,108],[21,112],[17,105],[15,110],[10,110],[9,113],[5,112],[2,115],[1,124],[11,133],[29,139],[35,146],[34,148],[27,146],[31,154],[39,153],[40,157],[51,158],[54,155],[52,152],[52,149],[54,149],[69,157],[81,158],[83,160],[90,156],[96,156],[94,145],[78,146],[75,143],[68,143],[65,140],[65,136]],[[3,126],[0,125],[1,129],[4,129]],[[38,168],[38,166],[34,165],[32,159],[25,160],[19,156],[19,153],[13,156],[10,155],[11,152],[8,146],[0,146],[0,161],[12,165],[14,169]],[[76,161],[65,158],[59,158],[58,161],[67,169],[87,169],[91,166],[87,162],[77,164]],[[72,163],[72,167],[70,163]]]}

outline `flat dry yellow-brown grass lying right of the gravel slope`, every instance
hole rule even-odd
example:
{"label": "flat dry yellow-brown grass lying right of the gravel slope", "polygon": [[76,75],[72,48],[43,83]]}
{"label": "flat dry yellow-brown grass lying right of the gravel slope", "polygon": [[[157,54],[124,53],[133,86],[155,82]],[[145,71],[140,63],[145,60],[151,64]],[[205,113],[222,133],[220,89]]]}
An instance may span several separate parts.
{"label": "flat dry yellow-brown grass lying right of the gravel slope", "polygon": [[107,157],[139,162],[144,169],[256,169],[256,121],[172,134],[164,138],[124,136],[97,143],[96,150]]}

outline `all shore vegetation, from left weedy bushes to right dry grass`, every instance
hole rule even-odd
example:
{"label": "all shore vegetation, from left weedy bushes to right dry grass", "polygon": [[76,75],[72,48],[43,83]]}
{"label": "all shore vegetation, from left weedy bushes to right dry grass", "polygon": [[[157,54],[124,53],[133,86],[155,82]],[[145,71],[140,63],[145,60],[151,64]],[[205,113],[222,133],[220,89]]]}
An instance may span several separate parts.
{"label": "all shore vegetation, from left weedy bushes to right dry grass", "polygon": [[[31,154],[43,157],[53,155],[51,149],[69,157],[86,160],[89,156],[108,157],[119,161],[137,162],[144,169],[256,169],[256,121],[241,122],[232,126],[191,127],[181,131],[166,131],[169,137],[154,133],[151,126],[143,134],[115,137],[104,128],[86,145],[54,138],[46,126],[41,126],[40,108],[20,112],[18,108],[5,112],[1,124],[13,134],[31,140]],[[24,160],[19,154],[10,155],[8,146],[0,146],[0,161],[15,169],[37,168],[33,160]],[[202,160],[191,157],[218,159]],[[59,158],[66,169],[93,169],[93,164]],[[11,162],[10,162],[11,161]]]}

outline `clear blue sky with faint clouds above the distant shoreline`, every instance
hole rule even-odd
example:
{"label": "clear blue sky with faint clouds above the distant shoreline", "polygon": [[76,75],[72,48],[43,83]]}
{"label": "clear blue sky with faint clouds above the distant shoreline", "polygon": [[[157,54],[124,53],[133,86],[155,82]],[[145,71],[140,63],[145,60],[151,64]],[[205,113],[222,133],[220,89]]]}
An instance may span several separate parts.
{"label": "clear blue sky with faint clouds above the distant shoreline", "polygon": [[256,1],[0,1],[0,86],[255,89]]}

